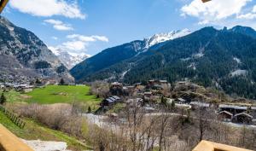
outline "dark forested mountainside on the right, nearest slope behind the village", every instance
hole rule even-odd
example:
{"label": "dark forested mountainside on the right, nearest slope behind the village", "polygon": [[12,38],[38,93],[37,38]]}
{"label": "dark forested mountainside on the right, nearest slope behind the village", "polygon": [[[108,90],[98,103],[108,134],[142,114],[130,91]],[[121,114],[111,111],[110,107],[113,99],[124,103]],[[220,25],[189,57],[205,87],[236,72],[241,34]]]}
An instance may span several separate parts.
{"label": "dark forested mountainside on the right, nearest slope behind the village", "polygon": [[183,38],[107,67],[85,81],[111,79],[125,83],[189,78],[230,95],[256,98],[256,40],[253,28],[227,30],[205,27]]}

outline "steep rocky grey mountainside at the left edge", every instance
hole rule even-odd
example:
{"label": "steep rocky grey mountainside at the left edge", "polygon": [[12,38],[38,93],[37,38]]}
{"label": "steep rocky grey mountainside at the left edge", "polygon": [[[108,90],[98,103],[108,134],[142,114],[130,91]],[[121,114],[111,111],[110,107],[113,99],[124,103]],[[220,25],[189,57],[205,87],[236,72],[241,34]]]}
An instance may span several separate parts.
{"label": "steep rocky grey mountainside at the left edge", "polygon": [[73,80],[61,61],[32,32],[0,16],[1,75]]}

